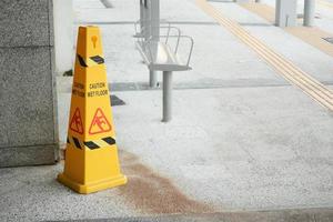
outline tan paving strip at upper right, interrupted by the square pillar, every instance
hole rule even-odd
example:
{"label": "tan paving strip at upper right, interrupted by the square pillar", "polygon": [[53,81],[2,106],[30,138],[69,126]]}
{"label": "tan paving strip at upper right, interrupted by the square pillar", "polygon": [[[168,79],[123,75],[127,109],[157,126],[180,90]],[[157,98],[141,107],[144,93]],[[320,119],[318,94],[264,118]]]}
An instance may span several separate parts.
{"label": "tan paving strip at upper right, interrupted by the square pillar", "polygon": [[[275,23],[274,21],[274,8],[268,6],[265,3],[240,3],[241,7],[245,8],[246,10],[256,13],[258,16],[262,17],[263,19],[268,20],[270,23]],[[323,38],[332,38],[333,34],[325,32],[315,27],[292,27],[285,28],[286,32],[302,39],[304,42],[315,47],[316,49],[321,50],[322,52],[333,57],[333,44],[325,41]]]}

